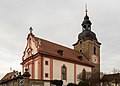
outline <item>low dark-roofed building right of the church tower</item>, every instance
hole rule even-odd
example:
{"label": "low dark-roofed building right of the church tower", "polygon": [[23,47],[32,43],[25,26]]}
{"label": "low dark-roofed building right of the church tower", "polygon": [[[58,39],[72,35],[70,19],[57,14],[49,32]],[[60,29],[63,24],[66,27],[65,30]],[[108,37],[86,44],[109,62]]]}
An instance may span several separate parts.
{"label": "low dark-roofed building right of the church tower", "polygon": [[101,78],[101,86],[120,86],[120,74],[107,74]]}

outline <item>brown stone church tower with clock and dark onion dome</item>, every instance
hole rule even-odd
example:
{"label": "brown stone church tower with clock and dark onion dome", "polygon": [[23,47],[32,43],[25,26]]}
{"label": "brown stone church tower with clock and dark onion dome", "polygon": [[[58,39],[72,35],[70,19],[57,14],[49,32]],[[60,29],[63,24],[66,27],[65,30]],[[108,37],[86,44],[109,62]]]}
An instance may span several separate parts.
{"label": "brown stone church tower with clock and dark onion dome", "polygon": [[90,61],[95,67],[92,70],[92,75],[95,82],[98,82],[100,79],[100,45],[98,42],[96,34],[91,30],[91,21],[87,14],[84,17],[82,22],[82,32],[78,35],[78,41],[75,43],[74,50],[81,52],[86,56],[87,60]]}

